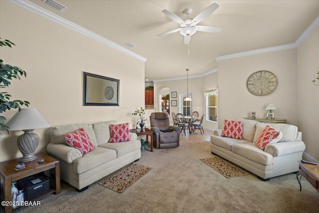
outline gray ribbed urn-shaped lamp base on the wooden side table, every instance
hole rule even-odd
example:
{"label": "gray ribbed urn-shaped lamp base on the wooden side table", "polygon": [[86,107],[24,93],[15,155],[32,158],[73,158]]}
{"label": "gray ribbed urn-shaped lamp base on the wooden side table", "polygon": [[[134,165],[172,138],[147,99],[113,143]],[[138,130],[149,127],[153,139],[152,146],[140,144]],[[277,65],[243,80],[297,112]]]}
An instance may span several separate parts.
{"label": "gray ribbed urn-shaped lamp base on the wooden side table", "polygon": [[34,129],[22,130],[23,135],[20,135],[17,139],[17,146],[23,157],[19,159],[19,162],[34,161],[38,157],[34,155],[36,148],[39,144],[39,136],[33,132]]}

